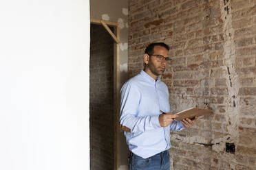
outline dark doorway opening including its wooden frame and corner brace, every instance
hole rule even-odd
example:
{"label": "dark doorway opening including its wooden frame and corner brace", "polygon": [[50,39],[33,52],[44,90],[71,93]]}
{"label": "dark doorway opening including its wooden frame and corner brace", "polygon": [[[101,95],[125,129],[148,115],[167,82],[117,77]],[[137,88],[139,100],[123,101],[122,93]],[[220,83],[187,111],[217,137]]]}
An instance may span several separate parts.
{"label": "dark doorway opening including its wooden frame and corner brace", "polygon": [[91,20],[90,36],[90,169],[117,169],[120,145],[117,24]]}

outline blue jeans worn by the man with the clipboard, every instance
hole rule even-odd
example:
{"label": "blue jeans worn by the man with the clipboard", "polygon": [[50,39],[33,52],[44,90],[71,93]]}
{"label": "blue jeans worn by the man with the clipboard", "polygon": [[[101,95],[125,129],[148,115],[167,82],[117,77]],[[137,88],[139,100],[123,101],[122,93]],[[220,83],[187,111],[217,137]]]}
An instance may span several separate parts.
{"label": "blue jeans worn by the man with the clipboard", "polygon": [[162,151],[149,158],[142,158],[134,153],[130,153],[129,170],[170,170],[169,151]]}

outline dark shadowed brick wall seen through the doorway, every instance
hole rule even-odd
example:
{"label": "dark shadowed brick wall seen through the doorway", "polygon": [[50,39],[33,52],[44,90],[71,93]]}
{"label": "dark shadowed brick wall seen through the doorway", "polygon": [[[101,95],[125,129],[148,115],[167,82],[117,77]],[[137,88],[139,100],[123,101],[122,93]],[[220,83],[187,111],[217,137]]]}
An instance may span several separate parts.
{"label": "dark shadowed brick wall seen through the doorway", "polygon": [[114,167],[113,64],[113,39],[102,25],[91,25],[89,137],[92,170]]}

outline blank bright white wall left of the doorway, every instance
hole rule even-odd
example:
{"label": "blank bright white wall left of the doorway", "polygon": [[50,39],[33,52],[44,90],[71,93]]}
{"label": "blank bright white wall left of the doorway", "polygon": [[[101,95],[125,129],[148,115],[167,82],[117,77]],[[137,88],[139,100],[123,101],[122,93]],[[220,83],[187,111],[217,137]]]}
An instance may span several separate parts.
{"label": "blank bright white wall left of the doorway", "polygon": [[89,0],[0,1],[0,169],[89,169]]}

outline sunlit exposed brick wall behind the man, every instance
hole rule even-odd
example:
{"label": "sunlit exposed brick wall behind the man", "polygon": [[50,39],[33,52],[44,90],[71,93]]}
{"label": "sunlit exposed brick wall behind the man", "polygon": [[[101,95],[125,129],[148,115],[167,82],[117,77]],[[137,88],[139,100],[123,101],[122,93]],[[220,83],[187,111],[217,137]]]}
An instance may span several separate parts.
{"label": "sunlit exposed brick wall behind the man", "polygon": [[166,42],[171,111],[214,110],[171,132],[171,169],[256,168],[255,37],[255,0],[129,1],[129,77],[150,42]]}

